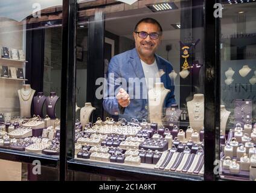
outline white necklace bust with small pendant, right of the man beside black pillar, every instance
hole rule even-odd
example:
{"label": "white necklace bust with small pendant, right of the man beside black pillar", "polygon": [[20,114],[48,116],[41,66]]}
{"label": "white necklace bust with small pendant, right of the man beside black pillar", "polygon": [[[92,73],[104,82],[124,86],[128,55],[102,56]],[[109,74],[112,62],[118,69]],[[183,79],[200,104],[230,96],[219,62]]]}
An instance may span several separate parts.
{"label": "white necklace bust with small pendant, right of the man beside black pillar", "polygon": [[195,94],[192,101],[187,103],[190,126],[199,133],[203,128],[205,113],[205,98],[203,94]]}

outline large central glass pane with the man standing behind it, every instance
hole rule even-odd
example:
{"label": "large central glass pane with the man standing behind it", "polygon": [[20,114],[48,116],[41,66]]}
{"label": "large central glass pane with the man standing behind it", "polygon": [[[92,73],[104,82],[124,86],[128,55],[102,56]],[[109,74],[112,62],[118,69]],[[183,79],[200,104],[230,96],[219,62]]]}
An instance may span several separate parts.
{"label": "large central glass pane with the man standing behind it", "polygon": [[203,1],[100,4],[78,4],[75,159],[200,178]]}

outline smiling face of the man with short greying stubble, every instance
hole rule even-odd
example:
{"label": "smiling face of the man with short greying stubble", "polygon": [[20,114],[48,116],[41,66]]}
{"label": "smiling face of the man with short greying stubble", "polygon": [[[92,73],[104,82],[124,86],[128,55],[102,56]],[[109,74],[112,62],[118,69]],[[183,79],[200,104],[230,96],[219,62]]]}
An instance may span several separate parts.
{"label": "smiling face of the man with short greying stubble", "polygon": [[[161,34],[158,25],[156,24],[147,24],[142,22],[138,25],[138,32],[144,31],[148,34],[150,33],[158,33]],[[139,37],[138,33],[133,33],[133,37],[135,39],[135,46],[139,55],[142,57],[150,57],[153,56],[156,52],[156,49],[161,43],[162,36],[159,36],[158,39],[151,39],[150,36],[147,36],[146,39]]]}

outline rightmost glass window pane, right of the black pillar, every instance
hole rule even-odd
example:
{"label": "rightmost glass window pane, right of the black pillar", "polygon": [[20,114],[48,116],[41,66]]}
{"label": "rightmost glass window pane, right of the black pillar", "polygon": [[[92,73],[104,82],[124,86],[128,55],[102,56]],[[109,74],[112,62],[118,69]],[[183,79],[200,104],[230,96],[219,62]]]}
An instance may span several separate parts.
{"label": "rightmost glass window pane, right of the black pillar", "polygon": [[223,4],[221,19],[222,178],[255,180],[256,4]]}

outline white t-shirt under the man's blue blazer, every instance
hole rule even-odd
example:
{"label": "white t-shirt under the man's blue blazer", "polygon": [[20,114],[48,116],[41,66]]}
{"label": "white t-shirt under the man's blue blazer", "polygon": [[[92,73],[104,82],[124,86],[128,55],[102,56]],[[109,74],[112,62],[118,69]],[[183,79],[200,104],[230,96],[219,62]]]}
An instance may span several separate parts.
{"label": "white t-shirt under the man's blue blazer", "polygon": [[146,78],[147,89],[153,89],[154,84],[156,83],[156,78],[159,78],[158,65],[156,64],[156,60],[152,65],[148,65],[141,60],[141,64]]}

